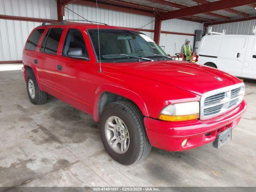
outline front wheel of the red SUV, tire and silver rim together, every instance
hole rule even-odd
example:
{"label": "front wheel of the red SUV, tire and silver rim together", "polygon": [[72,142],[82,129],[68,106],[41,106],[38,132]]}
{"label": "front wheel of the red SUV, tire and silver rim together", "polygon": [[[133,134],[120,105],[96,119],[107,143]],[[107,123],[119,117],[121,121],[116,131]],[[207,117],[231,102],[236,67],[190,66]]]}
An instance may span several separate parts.
{"label": "front wheel of the red SUV, tire and silver rim together", "polygon": [[100,117],[100,136],[108,154],[120,164],[139,162],[151,150],[143,115],[132,102],[118,101],[106,106]]}

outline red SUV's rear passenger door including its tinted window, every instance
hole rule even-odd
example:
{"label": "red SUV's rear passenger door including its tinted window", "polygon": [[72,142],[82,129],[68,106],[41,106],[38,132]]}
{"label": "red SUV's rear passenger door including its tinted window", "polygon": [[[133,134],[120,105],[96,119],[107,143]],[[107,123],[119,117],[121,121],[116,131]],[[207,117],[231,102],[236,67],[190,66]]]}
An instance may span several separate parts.
{"label": "red SUV's rear passenger door including its tinted window", "polygon": [[37,52],[35,60],[38,77],[43,89],[56,90],[56,70],[58,62],[58,46],[63,28],[49,28],[41,43],[40,52]]}

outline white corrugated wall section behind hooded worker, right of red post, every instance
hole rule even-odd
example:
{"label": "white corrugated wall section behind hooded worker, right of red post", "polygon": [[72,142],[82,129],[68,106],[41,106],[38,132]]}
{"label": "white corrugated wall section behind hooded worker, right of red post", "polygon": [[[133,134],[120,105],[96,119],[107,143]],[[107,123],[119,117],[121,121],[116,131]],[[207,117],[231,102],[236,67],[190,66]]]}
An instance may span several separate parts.
{"label": "white corrugated wall section behind hooded worker, right of red post", "polygon": [[[202,30],[203,24],[190,22],[179,19],[166,20],[162,22],[162,31],[182,32],[194,34],[195,30]],[[194,36],[187,35],[173,35],[173,34],[161,34],[160,46],[164,46],[164,51],[171,56],[175,56],[175,53],[180,53],[180,48],[184,44],[185,40],[189,39],[190,44],[193,46]],[[176,48],[175,48],[176,45]]]}

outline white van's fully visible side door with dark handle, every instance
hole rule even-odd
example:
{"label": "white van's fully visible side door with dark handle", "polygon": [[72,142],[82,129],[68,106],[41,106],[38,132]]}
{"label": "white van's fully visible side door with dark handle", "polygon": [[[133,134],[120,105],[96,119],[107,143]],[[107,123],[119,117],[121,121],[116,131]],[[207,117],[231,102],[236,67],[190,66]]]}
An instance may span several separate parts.
{"label": "white van's fully visible side door with dark handle", "polygon": [[224,36],[217,59],[218,69],[241,76],[248,40],[246,36]]}

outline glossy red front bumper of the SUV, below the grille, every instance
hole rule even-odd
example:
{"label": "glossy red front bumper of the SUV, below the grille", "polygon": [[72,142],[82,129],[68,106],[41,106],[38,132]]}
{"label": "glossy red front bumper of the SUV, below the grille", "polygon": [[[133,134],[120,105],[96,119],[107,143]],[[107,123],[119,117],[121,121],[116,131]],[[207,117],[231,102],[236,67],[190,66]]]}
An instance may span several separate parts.
{"label": "glossy red front bumper of the SUV, below the grille", "polygon": [[[144,124],[152,146],[167,151],[184,151],[216,140],[217,135],[229,127],[233,129],[245,110],[243,100],[231,111],[208,120],[167,122],[145,117]],[[185,139],[186,144],[181,146]]]}

